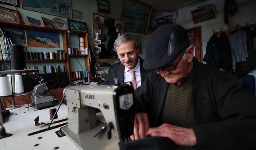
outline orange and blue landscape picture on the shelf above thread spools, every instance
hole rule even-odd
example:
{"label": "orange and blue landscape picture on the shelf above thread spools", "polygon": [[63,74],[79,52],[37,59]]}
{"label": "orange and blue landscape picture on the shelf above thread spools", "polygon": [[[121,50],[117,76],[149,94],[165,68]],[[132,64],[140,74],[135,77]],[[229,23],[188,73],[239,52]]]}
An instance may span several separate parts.
{"label": "orange and blue landscape picture on the shelf above thread spools", "polygon": [[26,31],[28,47],[60,48],[60,36],[58,33]]}

